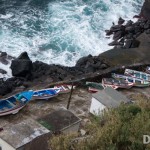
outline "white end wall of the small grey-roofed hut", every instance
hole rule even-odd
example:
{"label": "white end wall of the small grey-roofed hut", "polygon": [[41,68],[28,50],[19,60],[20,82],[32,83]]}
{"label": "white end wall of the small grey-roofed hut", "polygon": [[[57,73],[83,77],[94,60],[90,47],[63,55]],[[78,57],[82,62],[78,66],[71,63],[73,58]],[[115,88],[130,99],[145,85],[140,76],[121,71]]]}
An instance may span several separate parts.
{"label": "white end wall of the small grey-roofed hut", "polygon": [[104,109],[106,109],[106,106],[104,106],[102,103],[100,103],[94,97],[92,97],[91,106],[90,106],[90,113],[92,113],[93,115],[99,115],[102,113],[102,111]]}

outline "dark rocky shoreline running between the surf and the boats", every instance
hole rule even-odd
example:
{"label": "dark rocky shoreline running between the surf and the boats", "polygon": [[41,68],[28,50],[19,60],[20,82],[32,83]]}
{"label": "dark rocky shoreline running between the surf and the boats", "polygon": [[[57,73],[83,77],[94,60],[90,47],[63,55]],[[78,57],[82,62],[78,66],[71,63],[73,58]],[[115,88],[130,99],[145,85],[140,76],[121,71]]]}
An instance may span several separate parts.
{"label": "dark rocky shoreline running between the surf and the boats", "polygon": [[[150,21],[147,17],[147,11],[150,10],[148,6],[150,7],[150,5],[145,8],[148,2],[148,0],[145,0],[139,14],[140,19],[136,23],[129,25],[128,22],[128,27],[127,24],[122,26],[124,21],[120,18],[118,21],[119,25],[115,28],[113,26],[107,31],[107,35],[114,34],[114,41],[111,43],[115,46],[114,49],[98,56],[88,55],[82,57],[73,67],[55,64],[48,65],[40,61],[32,62],[26,52],[22,53],[18,58],[13,58],[5,52],[1,53],[0,63],[7,65],[7,59],[13,60],[11,64],[13,77],[6,81],[0,81],[0,95],[7,96],[7,94],[22,90],[45,88],[58,82],[79,82],[85,79],[100,80],[103,76],[109,76],[112,71],[122,72],[126,67],[143,70],[143,67],[150,64],[150,35],[148,33],[148,30],[150,30],[150,24],[148,23]],[[137,36],[138,32],[134,30],[135,24],[137,25],[138,23],[140,34]],[[143,27],[141,27],[141,24]],[[148,28],[144,27],[146,24],[148,24]],[[124,30],[124,33],[122,33],[122,30]],[[133,37],[128,38],[130,32],[132,32]],[[120,41],[123,42],[122,39],[124,39],[124,43],[120,45]],[[18,64],[17,67],[16,64]],[[6,74],[7,72],[0,69],[0,73]]]}

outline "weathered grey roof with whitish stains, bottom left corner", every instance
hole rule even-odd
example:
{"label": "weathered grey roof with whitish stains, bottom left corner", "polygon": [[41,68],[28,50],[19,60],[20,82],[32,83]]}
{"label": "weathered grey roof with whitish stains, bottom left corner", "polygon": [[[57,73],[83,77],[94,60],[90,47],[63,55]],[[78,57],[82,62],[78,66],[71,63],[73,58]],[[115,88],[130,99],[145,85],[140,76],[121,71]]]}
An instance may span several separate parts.
{"label": "weathered grey roof with whitish stains, bottom left corner", "polygon": [[31,142],[36,137],[49,132],[36,121],[28,119],[19,124],[4,127],[4,130],[0,132],[0,138],[17,149]]}

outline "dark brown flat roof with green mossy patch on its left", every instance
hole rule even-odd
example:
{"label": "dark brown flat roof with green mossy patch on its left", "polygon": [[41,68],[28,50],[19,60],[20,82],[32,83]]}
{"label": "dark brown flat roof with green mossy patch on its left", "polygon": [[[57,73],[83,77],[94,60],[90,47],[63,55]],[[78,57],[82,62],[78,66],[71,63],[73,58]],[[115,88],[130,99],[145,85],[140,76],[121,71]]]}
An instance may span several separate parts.
{"label": "dark brown flat roof with green mossy patch on its left", "polygon": [[53,132],[62,131],[79,121],[80,118],[76,117],[71,111],[66,109],[56,110],[49,115],[38,119],[39,123]]}

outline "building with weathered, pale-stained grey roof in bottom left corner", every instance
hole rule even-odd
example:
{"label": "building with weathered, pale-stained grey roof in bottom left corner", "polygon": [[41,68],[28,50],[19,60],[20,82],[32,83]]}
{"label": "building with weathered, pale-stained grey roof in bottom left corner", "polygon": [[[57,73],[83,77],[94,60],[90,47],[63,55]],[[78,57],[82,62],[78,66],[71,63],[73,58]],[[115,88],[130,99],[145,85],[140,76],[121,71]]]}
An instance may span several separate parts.
{"label": "building with weathered, pale-stained grey roof in bottom left corner", "polygon": [[51,133],[32,119],[4,127],[0,132],[0,150],[48,150]]}

